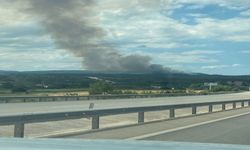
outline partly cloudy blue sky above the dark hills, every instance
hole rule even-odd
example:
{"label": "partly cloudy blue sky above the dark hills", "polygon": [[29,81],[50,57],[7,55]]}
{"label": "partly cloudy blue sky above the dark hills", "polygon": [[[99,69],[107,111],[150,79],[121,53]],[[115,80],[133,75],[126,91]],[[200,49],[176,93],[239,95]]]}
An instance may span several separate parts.
{"label": "partly cloudy blue sky above the dark hills", "polygon": [[[185,72],[250,75],[249,0],[76,0],[77,7],[50,0],[53,11],[45,7],[48,0],[39,9],[32,1],[0,0],[0,70],[98,70],[102,66],[93,63],[113,64],[114,58],[122,61],[120,70],[121,64],[138,68],[145,62]],[[59,4],[64,1],[66,6]],[[62,30],[64,22],[57,21],[69,16],[86,31],[74,25]],[[75,48],[74,41],[83,44]],[[90,55],[90,43],[105,45],[93,51],[107,59]]]}

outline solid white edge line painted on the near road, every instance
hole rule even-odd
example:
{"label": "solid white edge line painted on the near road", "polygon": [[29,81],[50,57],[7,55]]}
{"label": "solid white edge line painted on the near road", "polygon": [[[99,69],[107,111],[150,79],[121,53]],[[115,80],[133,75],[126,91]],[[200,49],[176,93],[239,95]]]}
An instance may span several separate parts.
{"label": "solid white edge line painted on the near road", "polygon": [[183,127],[174,128],[174,129],[168,129],[168,130],[164,130],[164,131],[159,131],[159,132],[144,134],[144,135],[140,135],[140,136],[130,137],[130,138],[127,138],[127,140],[144,139],[144,138],[148,138],[148,137],[152,137],[152,136],[157,136],[157,135],[166,134],[166,133],[170,133],[170,132],[174,132],[174,131],[188,129],[188,128],[192,128],[192,127],[196,127],[196,126],[201,126],[201,125],[205,125],[205,124],[209,124],[209,123],[214,123],[214,122],[218,122],[218,121],[222,121],[222,120],[236,118],[236,117],[240,117],[240,116],[244,116],[244,115],[248,115],[248,114],[250,114],[250,112],[246,112],[246,113],[242,113],[242,114],[237,114],[237,115],[233,115],[233,116],[229,116],[229,117],[224,117],[224,118],[219,118],[219,119],[214,119],[214,120],[209,120],[209,121],[200,122],[200,123],[196,123],[196,124],[191,124],[191,125],[187,125],[187,126],[183,126]]}

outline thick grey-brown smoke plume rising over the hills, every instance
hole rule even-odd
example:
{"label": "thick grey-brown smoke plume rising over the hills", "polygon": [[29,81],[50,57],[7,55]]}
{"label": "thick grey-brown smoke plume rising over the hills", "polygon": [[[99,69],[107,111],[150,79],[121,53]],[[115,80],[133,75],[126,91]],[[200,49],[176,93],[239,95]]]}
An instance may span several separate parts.
{"label": "thick grey-brown smoke plume rising over the hills", "polygon": [[55,45],[82,58],[83,66],[94,71],[169,72],[151,64],[149,56],[122,55],[104,41],[94,0],[28,0],[25,12],[32,14],[52,37]]}

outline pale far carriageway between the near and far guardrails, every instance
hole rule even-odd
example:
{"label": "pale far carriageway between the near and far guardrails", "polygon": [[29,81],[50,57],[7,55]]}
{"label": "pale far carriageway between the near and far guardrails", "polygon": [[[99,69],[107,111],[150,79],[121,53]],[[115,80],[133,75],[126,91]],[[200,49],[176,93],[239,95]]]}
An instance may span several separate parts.
{"label": "pale far carriageway between the near and far guardrails", "polygon": [[250,92],[206,95],[206,96],[180,96],[180,97],[160,97],[160,98],[134,98],[134,99],[112,99],[112,100],[89,100],[89,101],[59,101],[59,102],[32,102],[32,103],[2,103],[0,104],[0,114],[2,116],[64,112],[88,110],[89,104],[94,103],[93,109],[107,108],[127,108],[135,106],[154,106],[168,104],[184,104],[197,102],[215,102],[250,99]]}

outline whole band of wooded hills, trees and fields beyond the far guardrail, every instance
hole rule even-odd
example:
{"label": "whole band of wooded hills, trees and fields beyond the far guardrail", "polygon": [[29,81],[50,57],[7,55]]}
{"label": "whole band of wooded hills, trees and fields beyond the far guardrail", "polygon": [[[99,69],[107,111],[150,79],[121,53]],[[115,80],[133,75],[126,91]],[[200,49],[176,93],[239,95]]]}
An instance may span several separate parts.
{"label": "whole band of wooded hills, trees and fields beyond the far guardrail", "polygon": [[[204,83],[218,85],[209,89]],[[248,91],[250,76],[12,72],[0,74],[0,95],[209,94]]]}

